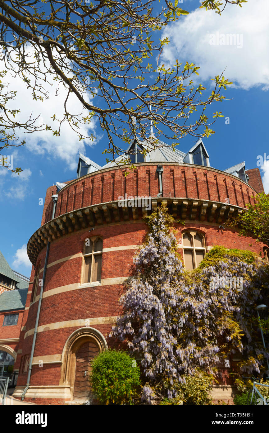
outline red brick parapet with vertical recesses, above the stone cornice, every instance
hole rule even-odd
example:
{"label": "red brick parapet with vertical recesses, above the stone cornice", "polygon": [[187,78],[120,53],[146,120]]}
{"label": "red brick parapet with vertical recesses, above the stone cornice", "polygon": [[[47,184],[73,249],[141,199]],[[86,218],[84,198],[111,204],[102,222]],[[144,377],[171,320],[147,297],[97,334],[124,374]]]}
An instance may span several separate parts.
{"label": "red brick parapet with vertical recesses, above the stone cornice", "polygon": [[[254,203],[258,190],[231,174],[189,164],[162,165],[163,197],[198,198],[223,203],[227,203],[228,198],[230,204],[240,207],[245,207],[248,202]],[[157,197],[159,181],[156,168],[157,164],[140,163],[137,164],[137,170],[130,172],[127,177],[122,169],[113,168],[70,181],[58,193],[55,216],[92,204],[118,200],[118,197],[124,194]],[[55,193],[55,186],[47,189],[41,225],[51,219],[51,195]]]}

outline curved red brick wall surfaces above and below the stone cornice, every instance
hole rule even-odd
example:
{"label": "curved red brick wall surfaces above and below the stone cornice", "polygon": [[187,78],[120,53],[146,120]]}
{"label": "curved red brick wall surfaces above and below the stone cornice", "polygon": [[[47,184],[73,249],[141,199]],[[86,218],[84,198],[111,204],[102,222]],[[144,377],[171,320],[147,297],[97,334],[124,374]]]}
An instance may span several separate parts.
{"label": "curved red brick wall surfaces above and below the stone cornice", "polygon": [[[245,207],[247,202],[254,202],[256,191],[240,179],[232,175],[213,170],[211,168],[191,165],[162,164],[163,196],[188,197],[203,200],[225,202],[229,198],[230,204]],[[156,164],[139,164],[127,177],[118,168],[99,171],[76,181],[71,181],[58,193],[56,216],[70,212],[73,209],[117,200],[119,196],[147,195],[156,197],[159,192]],[[51,195],[56,193],[56,187],[49,187],[44,202],[42,224],[51,219]],[[51,207],[51,208],[50,208]],[[141,214],[139,214],[141,218]],[[219,224],[208,222],[185,221],[182,228],[175,225],[177,238],[181,238],[182,229],[198,229],[203,232],[206,245],[223,245],[227,248],[250,249],[257,254],[263,245],[254,242],[253,238],[238,238],[234,230],[220,230]],[[73,326],[72,320],[88,318],[114,317],[120,314],[119,298],[123,292],[123,285],[117,282],[101,286],[82,287],[82,251],[86,237],[101,236],[103,249],[141,244],[147,234],[146,223],[139,221],[122,221],[107,226],[96,226],[95,231],[89,233],[89,228],[70,233],[51,243],[48,257],[47,274],[44,282],[44,295],[38,326],[34,357],[42,360],[43,356],[59,355],[63,352],[66,340],[81,325]],[[250,246],[251,244],[251,246]],[[180,250],[181,251],[181,250]],[[40,262],[44,267],[46,248],[38,255],[36,269]],[[101,279],[127,277],[133,272],[133,255],[135,249],[121,249],[104,251],[102,256]],[[65,259],[74,256],[69,260]],[[57,262],[65,259],[60,263]],[[54,262],[57,262],[54,264]],[[32,268],[26,307],[22,318],[22,332],[20,334],[16,368],[20,368],[17,386],[25,386],[27,373],[22,372],[25,357],[30,355],[33,329],[38,309],[38,301],[31,304],[32,290],[37,278],[36,270]],[[39,278],[42,278],[41,271]],[[73,286],[71,286],[73,284]],[[55,291],[55,289],[58,291]],[[37,295],[40,293],[38,288]],[[65,323],[62,323],[65,322]],[[61,324],[62,323],[62,324]],[[56,326],[57,324],[57,326]],[[55,328],[56,326],[56,328]],[[100,331],[108,344],[111,324],[100,323],[98,320],[92,327]],[[29,332],[30,331],[30,332]],[[33,366],[31,385],[59,385],[61,364],[44,364],[43,367]],[[28,398],[25,399],[29,400]],[[35,399],[43,404],[60,404],[59,399]]]}

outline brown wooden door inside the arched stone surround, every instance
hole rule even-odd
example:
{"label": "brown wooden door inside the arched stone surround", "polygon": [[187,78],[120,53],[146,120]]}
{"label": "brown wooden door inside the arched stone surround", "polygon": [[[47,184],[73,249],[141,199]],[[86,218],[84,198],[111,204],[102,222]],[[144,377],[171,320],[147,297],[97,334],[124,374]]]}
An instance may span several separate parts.
{"label": "brown wooden door inside the arched stone surround", "polygon": [[92,398],[92,387],[89,381],[89,375],[92,371],[91,361],[98,353],[98,347],[91,341],[82,344],[76,352],[73,400],[84,401]]}

